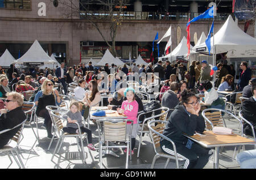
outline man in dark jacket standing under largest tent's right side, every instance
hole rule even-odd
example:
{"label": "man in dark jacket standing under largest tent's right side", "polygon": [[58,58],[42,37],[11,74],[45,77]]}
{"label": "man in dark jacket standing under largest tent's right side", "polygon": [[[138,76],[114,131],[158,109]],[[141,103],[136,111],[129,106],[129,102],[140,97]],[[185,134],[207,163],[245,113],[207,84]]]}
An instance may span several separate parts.
{"label": "man in dark jacket standing under largest tent's right side", "polygon": [[251,70],[247,67],[247,63],[245,61],[241,62],[240,65],[240,74],[237,82],[238,91],[243,91],[243,87],[248,85],[249,80],[251,79]]}

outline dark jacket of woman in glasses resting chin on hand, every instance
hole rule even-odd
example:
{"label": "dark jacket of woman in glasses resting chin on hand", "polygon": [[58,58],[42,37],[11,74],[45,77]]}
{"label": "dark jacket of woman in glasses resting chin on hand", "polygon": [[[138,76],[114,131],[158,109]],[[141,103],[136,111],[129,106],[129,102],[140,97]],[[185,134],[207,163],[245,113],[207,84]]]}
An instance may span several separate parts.
{"label": "dark jacket of woman in glasses resting chin on hand", "polygon": [[[186,145],[188,139],[183,133],[192,136],[195,131],[203,132],[205,129],[204,118],[191,114],[190,117],[183,105],[177,105],[172,112],[163,135],[170,138],[175,145]],[[167,140],[161,139],[160,144],[170,143]]]}

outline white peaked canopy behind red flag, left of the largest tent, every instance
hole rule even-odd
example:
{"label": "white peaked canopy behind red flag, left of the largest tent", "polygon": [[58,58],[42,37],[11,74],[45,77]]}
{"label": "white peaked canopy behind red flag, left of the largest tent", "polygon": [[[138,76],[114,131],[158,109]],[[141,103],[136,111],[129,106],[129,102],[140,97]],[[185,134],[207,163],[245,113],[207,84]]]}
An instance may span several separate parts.
{"label": "white peaked canopy behind red flag, left of the largest tent", "polygon": [[[193,46],[190,45],[191,50],[192,48]],[[177,47],[174,50],[172,50],[170,54],[167,54],[166,56],[161,58],[171,58],[171,61],[175,61],[177,56],[183,56],[183,59],[185,59],[188,56],[187,54],[188,54],[187,38],[183,36],[182,40],[180,41],[180,44],[177,45]]]}

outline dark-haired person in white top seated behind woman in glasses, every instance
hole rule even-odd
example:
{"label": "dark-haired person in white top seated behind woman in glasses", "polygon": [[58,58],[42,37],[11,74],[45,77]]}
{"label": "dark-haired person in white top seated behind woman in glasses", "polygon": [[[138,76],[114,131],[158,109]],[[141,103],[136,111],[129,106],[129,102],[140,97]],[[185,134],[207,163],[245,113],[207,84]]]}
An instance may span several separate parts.
{"label": "dark-haired person in white top seated behind woman in glasses", "polygon": [[225,109],[225,101],[218,97],[217,91],[212,87],[209,80],[201,82],[199,91],[204,91],[203,102],[201,104],[208,104],[208,108]]}

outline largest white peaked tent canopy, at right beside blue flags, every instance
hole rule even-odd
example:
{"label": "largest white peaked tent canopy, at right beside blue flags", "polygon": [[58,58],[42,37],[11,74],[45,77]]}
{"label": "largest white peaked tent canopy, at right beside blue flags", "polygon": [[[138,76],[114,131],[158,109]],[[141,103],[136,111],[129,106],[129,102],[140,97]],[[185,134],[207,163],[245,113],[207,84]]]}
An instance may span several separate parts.
{"label": "largest white peaked tent canopy, at right beside blue flags", "polygon": [[[213,37],[210,38],[210,46],[213,47]],[[197,46],[197,48],[204,47],[207,47],[205,42]],[[256,57],[256,38],[243,32],[231,15],[214,35],[214,47],[215,54],[228,52],[228,58]],[[208,48],[205,52],[208,52]],[[210,53],[213,53],[213,48],[210,49]]]}

